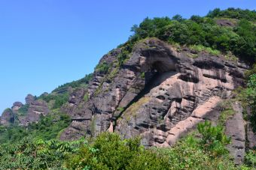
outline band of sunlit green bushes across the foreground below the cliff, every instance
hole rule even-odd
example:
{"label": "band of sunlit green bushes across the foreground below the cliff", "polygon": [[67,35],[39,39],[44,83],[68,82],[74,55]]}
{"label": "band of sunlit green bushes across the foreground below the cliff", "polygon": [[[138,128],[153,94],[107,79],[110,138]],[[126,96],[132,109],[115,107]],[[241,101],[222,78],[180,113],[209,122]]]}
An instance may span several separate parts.
{"label": "band of sunlit green bushes across the foreground below the cliff", "polygon": [[209,123],[200,126],[201,137],[187,136],[173,148],[146,149],[139,138],[122,140],[115,133],[102,133],[89,143],[25,138],[0,146],[0,169],[236,169],[224,149],[222,130]]}

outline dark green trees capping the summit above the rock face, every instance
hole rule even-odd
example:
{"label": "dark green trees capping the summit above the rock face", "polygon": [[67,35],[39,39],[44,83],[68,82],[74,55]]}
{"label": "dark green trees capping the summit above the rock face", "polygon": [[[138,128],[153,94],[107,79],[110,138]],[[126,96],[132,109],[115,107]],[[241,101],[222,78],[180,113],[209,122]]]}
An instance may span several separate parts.
{"label": "dark green trees capping the summit above the rock face", "polygon": [[[228,13],[239,13],[237,16]],[[216,14],[224,13],[224,14]],[[236,27],[223,27],[217,25],[211,18],[216,16],[236,17],[241,19]],[[190,19],[181,19],[175,16],[172,19],[146,18],[139,26],[134,25],[134,32],[130,40],[142,40],[146,37],[158,37],[169,43],[204,47],[213,55],[224,52],[238,55],[245,61],[254,61],[256,56],[256,26],[250,22],[248,16],[256,15],[250,10],[213,10],[208,17],[191,16]],[[232,58],[233,59],[233,58]]]}

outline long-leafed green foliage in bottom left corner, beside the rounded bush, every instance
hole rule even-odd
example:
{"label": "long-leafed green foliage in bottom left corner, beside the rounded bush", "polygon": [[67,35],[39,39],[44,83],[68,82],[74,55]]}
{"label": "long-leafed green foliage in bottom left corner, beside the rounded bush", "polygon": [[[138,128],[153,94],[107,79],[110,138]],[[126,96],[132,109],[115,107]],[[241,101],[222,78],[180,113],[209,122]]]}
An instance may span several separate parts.
{"label": "long-leafed green foliage in bottom left corner, beside the rounded bush", "polygon": [[56,139],[45,142],[26,137],[14,144],[0,146],[0,170],[61,170],[66,155],[75,153],[80,145],[86,145],[86,142],[61,142]]}

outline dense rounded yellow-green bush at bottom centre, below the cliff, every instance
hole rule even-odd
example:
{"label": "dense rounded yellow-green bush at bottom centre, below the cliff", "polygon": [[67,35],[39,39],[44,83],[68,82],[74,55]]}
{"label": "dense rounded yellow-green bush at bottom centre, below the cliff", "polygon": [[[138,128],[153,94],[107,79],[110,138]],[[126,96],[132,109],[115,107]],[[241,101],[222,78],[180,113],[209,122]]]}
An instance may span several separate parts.
{"label": "dense rounded yellow-green bush at bottom centre, below the cliff", "polygon": [[145,150],[140,139],[121,140],[115,133],[102,133],[90,147],[82,147],[66,161],[68,169],[168,169],[165,158]]}

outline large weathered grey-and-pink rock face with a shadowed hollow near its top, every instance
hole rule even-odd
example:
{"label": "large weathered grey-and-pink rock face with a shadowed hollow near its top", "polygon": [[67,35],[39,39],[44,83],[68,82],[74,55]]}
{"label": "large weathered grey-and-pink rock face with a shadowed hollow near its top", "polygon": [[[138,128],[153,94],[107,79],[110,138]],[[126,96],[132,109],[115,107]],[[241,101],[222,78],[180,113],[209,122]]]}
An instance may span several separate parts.
{"label": "large weathered grey-and-pink rock face with a shadowed hollow near its top", "polygon": [[125,138],[140,135],[146,146],[172,145],[198,122],[215,118],[218,103],[243,85],[248,69],[221,56],[177,50],[157,39],[136,44],[117,67],[120,50],[103,56],[99,64],[110,65],[108,72],[96,70],[87,90],[74,91],[62,108],[72,116],[72,124],[61,139],[108,130]]}

